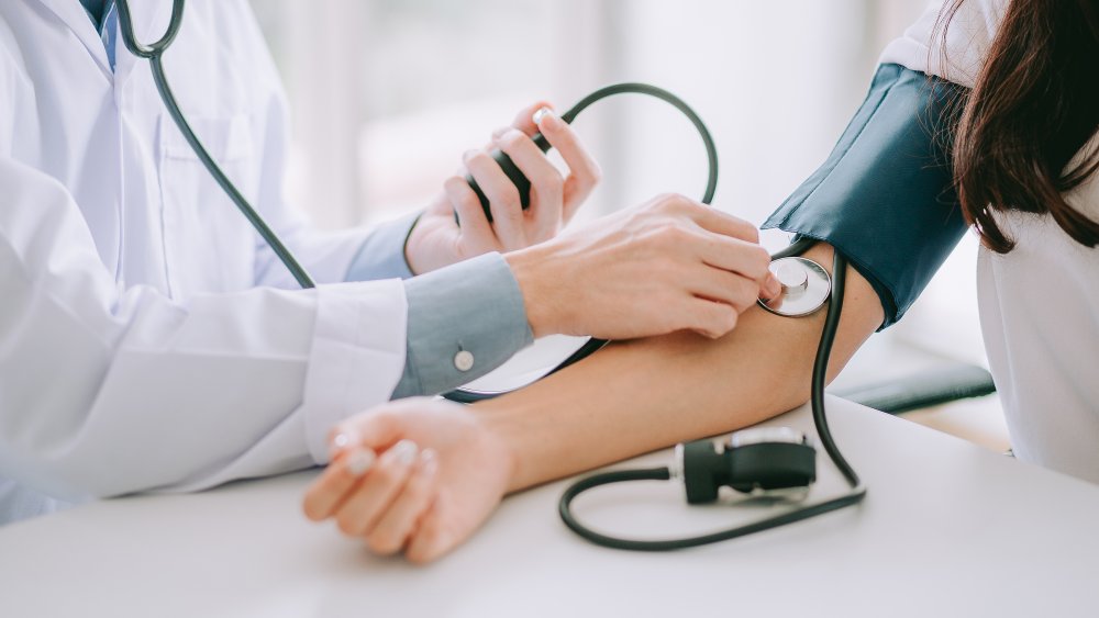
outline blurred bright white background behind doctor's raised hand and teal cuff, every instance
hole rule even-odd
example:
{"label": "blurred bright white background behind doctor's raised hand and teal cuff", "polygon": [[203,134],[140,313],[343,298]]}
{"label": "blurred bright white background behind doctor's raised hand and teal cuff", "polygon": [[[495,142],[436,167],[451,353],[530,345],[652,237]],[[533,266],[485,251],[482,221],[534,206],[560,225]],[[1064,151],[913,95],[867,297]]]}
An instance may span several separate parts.
{"label": "blurred bright white background behind doctor's raised hand and teal cuff", "polygon": [[[922,0],[253,0],[295,121],[288,188],[324,227],[423,207],[515,112],[564,110],[599,86],[679,94],[719,147],[714,205],[755,223],[824,160],[862,101],[882,46]],[[576,127],[604,182],[589,215],[653,194],[699,195],[706,159],[690,124],[636,97]],[[785,235],[765,244],[777,248]],[[904,375],[942,359],[985,364],[967,238],[906,321],[865,347],[840,383]],[[963,425],[1002,434],[995,397]],[[977,420],[979,419],[979,420]],[[951,420],[951,423],[954,423]],[[997,434],[995,448],[1003,441]]]}

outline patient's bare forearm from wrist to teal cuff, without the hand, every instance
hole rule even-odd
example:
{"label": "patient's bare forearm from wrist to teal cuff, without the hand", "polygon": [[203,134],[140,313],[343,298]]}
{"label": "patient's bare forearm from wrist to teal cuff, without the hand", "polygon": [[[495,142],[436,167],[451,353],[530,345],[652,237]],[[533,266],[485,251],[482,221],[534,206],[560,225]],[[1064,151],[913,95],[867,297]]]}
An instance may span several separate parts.
{"label": "patient's bare forearm from wrist to teal cuff, without the hand", "polygon": [[[831,271],[831,247],[806,257]],[[830,379],[881,319],[877,294],[848,268]],[[754,307],[719,340],[681,333],[613,344],[476,409],[513,446],[510,490],[520,490],[804,403],[823,322],[823,310],[790,318]]]}

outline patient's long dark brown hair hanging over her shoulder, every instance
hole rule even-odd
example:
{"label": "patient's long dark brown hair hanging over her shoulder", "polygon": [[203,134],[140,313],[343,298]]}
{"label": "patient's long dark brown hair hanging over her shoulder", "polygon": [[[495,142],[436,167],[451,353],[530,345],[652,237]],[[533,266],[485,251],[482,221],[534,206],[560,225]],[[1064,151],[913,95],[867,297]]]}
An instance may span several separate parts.
{"label": "patient's long dark brown hair hanging over her shoulder", "polygon": [[[943,42],[964,2],[953,0],[941,15]],[[1099,1],[1011,0],[964,102],[953,150],[962,209],[987,247],[1014,247],[992,218],[1007,210],[1048,213],[1077,243],[1099,243],[1099,222],[1063,195],[1099,169],[1095,151],[1068,168],[1097,130]]]}

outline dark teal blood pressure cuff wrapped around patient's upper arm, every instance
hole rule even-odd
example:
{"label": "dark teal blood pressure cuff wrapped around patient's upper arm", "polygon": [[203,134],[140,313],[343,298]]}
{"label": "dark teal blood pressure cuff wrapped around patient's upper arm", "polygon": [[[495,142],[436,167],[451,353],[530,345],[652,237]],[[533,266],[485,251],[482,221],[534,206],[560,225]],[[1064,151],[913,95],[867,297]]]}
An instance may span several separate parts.
{"label": "dark teal blood pressure cuff wrapped around patient's upper arm", "polygon": [[959,86],[899,65],[821,166],[763,227],[835,247],[878,293],[884,329],[904,315],[966,231],[946,153]]}

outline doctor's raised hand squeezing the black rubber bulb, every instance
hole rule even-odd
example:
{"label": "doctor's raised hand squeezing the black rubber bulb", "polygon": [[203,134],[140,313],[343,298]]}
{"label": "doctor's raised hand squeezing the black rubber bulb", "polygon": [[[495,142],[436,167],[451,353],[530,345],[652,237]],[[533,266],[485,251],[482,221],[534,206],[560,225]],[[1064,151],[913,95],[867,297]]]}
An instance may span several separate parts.
{"label": "doctor's raised hand squeezing the black rubber bulb", "polygon": [[[543,109],[546,112],[536,114]],[[568,176],[563,176],[534,145],[531,136],[540,132],[565,159]],[[519,190],[490,156],[493,148],[511,157],[530,179],[528,210],[521,206]],[[463,164],[464,168],[446,180],[444,191],[409,235],[404,256],[417,274],[481,254],[513,251],[553,238],[591,194],[601,175],[573,128],[543,102],[521,111],[510,127],[497,130],[485,148],[467,151]],[[467,171],[489,199],[492,223],[466,183]],[[460,225],[454,220],[455,213]]]}

